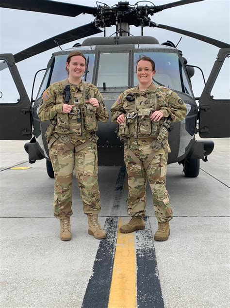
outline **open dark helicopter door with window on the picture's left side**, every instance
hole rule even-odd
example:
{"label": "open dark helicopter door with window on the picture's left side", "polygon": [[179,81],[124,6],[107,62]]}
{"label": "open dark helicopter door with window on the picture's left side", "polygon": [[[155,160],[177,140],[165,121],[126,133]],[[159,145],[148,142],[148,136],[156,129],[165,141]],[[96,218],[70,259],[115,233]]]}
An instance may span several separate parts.
{"label": "open dark helicopter door with window on the picture's left side", "polygon": [[31,102],[13,54],[0,54],[0,139],[32,138]]}

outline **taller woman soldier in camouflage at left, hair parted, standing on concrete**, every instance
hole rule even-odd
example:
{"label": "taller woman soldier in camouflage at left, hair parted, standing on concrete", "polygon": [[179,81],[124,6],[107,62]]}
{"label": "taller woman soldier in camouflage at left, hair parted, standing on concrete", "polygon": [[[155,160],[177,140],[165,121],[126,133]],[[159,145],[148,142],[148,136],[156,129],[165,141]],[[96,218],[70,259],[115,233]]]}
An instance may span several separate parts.
{"label": "taller woman soldier in camouflage at left, hair parted, standing on concrete", "polygon": [[81,52],[71,52],[66,60],[68,78],[49,86],[38,111],[41,121],[51,122],[46,137],[55,176],[53,210],[54,216],[60,219],[62,241],[71,240],[74,169],[83,211],[88,216],[88,233],[96,239],[106,237],[98,223],[100,193],[95,132],[98,120],[106,123],[109,116],[98,88],[82,81],[85,64]]}

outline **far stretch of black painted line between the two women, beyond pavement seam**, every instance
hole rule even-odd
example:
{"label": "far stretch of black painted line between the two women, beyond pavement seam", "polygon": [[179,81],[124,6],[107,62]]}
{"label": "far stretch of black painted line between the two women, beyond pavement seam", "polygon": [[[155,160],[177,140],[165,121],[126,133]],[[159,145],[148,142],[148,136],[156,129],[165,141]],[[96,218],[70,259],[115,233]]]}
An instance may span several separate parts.
{"label": "far stretch of black painted line between the two women, beyond pavement seam", "polygon": [[115,184],[115,197],[110,216],[117,216],[120,207],[120,200],[123,195],[126,167],[121,167]]}

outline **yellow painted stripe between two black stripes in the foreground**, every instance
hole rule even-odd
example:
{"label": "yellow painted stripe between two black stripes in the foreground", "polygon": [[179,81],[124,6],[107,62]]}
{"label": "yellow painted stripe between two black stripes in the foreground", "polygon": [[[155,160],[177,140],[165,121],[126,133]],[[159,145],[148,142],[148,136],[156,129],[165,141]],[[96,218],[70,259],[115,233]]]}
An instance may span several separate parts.
{"label": "yellow painted stripe between two black stripes in the foreground", "polygon": [[[119,228],[122,220],[119,220]],[[119,229],[118,229],[119,230]],[[136,307],[136,253],[134,232],[117,233],[108,308]]]}

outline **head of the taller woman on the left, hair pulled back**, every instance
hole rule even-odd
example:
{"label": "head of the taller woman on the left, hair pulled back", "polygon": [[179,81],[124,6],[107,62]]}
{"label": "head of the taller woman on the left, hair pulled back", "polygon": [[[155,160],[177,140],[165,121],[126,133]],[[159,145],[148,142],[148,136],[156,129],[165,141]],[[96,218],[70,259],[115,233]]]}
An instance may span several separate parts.
{"label": "head of the taller woman on the left, hair pulled back", "polygon": [[81,78],[85,71],[86,58],[80,51],[71,52],[66,59],[66,71],[72,78]]}

